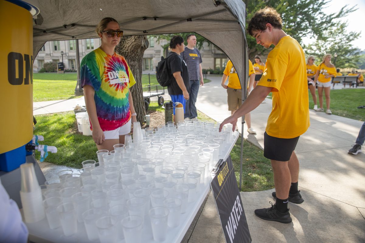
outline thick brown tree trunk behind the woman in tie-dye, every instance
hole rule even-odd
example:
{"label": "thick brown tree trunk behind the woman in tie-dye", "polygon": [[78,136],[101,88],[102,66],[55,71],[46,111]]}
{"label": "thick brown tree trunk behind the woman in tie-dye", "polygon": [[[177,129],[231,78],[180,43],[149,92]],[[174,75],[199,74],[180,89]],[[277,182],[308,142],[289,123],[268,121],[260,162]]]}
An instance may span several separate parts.
{"label": "thick brown tree trunk behind the woman in tie-dye", "polygon": [[136,84],[131,87],[134,109],[137,113],[137,121],[144,122],[146,109],[145,101],[143,100],[142,91],[142,61],[143,53],[147,49],[149,43],[146,35],[130,35],[123,36],[118,46],[115,47],[115,52],[124,56],[127,60],[132,74],[136,80]]}

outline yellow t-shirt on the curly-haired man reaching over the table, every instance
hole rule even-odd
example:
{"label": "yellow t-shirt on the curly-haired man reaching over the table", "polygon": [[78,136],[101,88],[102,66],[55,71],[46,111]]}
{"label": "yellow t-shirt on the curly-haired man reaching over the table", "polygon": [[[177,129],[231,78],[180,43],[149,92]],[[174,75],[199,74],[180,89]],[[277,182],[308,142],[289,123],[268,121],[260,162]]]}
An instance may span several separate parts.
{"label": "yellow t-shirt on the curly-haired man reaching over the table", "polygon": [[257,85],[273,88],[267,134],[295,138],[307,131],[310,122],[306,60],[295,39],[285,36],[279,40],[268,55]]}

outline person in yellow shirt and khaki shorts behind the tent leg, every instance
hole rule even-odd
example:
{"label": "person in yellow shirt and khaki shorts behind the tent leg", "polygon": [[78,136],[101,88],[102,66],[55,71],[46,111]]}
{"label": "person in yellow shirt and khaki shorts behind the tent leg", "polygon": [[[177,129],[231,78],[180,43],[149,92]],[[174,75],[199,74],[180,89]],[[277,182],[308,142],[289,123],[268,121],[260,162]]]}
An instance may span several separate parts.
{"label": "person in yellow shirt and khaki shorts behind the tent leg", "polygon": [[[227,77],[229,77],[228,85],[225,84]],[[252,62],[249,60],[249,83],[247,84],[247,95],[251,92],[254,82],[255,72],[253,70]],[[233,115],[233,113],[242,105],[242,89],[238,74],[231,60],[228,60],[226,68],[223,71],[221,85],[227,90],[228,110],[230,110],[231,115]],[[245,115],[245,122],[247,124],[247,132],[250,134],[256,134],[256,131],[251,128],[251,113],[247,113]]]}

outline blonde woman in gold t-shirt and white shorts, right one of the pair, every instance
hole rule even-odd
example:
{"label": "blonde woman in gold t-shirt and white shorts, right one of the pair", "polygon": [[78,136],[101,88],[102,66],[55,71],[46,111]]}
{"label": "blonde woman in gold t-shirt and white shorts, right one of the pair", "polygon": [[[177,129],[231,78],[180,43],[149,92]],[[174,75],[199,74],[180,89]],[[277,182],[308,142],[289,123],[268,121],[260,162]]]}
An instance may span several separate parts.
{"label": "blonde woman in gold t-shirt and white shorts, right one of the pair", "polygon": [[318,65],[316,75],[314,77],[314,82],[318,81],[318,98],[319,98],[319,108],[314,109],[315,111],[324,111],[323,109],[323,90],[324,96],[326,97],[327,114],[332,114],[330,110],[330,91],[331,91],[331,77],[336,77],[337,71],[335,65],[331,63],[331,54],[324,54],[322,63]]}

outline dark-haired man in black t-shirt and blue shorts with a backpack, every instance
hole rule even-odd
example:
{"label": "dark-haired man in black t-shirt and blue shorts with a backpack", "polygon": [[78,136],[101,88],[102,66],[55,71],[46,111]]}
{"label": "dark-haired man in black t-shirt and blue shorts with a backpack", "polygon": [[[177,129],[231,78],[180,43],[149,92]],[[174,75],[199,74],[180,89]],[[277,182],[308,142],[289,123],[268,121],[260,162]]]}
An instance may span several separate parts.
{"label": "dark-haired man in black t-shirt and blue shorts with a backpack", "polygon": [[[175,35],[170,40],[171,52],[168,55],[168,68],[171,71],[174,79],[167,86],[172,102],[180,102],[186,107],[186,100],[189,99],[190,78],[188,67],[185,61],[181,58],[180,53],[184,51],[184,39]],[[173,109],[175,119],[175,108]]]}

